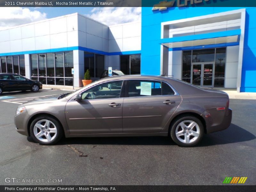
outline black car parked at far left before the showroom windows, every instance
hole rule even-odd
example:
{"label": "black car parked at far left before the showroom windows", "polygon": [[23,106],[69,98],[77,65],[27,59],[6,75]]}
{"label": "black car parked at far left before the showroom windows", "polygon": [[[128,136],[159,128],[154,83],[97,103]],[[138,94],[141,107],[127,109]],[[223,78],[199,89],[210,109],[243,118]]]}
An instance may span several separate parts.
{"label": "black car parked at far left before the showroom windows", "polygon": [[11,91],[31,90],[37,92],[39,89],[42,89],[42,83],[39,81],[30,80],[17,74],[0,74],[0,95],[3,92]]}

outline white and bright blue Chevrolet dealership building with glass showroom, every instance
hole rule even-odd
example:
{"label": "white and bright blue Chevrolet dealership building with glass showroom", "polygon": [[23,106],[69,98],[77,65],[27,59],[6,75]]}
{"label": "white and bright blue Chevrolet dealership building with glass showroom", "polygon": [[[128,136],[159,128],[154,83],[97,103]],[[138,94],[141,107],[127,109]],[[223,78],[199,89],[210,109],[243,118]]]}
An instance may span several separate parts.
{"label": "white and bright blue Chevrolet dealership building with glass showroom", "polygon": [[0,70],[81,87],[87,69],[97,80],[112,67],[256,92],[255,19],[255,7],[142,7],[114,26],[74,13],[1,30]]}

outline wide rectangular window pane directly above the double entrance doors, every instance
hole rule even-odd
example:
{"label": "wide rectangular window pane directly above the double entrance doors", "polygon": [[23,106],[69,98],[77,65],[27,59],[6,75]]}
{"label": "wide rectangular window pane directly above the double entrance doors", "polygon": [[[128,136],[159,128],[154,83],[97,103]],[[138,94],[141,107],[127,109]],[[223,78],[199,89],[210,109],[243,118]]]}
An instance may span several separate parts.
{"label": "wide rectangular window pane directly above the double entrance doors", "polygon": [[215,59],[215,49],[193,50],[192,62],[210,62]]}

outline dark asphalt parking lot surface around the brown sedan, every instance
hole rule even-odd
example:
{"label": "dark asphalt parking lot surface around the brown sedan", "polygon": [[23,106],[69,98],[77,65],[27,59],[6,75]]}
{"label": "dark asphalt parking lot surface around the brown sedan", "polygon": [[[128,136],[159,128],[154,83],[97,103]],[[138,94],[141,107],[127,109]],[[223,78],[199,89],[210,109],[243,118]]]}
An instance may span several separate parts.
{"label": "dark asphalt parking lot surface around the brown sedan", "polygon": [[[167,137],[68,138],[42,146],[16,132],[13,116],[20,103],[66,92],[0,96],[1,185],[221,185],[226,177],[248,177],[243,185],[256,184],[256,100],[230,100],[231,126],[204,135],[193,148],[178,147]],[[5,178],[41,181],[6,183]]]}

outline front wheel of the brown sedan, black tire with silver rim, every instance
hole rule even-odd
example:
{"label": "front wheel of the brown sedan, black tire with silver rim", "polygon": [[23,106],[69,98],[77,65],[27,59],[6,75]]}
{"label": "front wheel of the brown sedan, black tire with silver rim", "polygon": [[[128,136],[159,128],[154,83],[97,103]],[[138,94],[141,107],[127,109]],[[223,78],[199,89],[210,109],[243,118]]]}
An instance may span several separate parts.
{"label": "front wheel of the brown sedan, black tire with silver rim", "polygon": [[41,145],[53,145],[63,137],[63,129],[56,119],[39,116],[30,125],[30,135]]}

